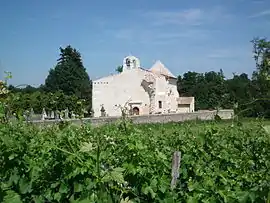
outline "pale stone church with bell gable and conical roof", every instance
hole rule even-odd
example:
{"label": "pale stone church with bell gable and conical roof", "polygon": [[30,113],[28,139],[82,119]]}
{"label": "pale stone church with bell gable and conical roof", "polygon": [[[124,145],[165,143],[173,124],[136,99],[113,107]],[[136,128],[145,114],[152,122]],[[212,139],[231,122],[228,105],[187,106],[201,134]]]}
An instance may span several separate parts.
{"label": "pale stone church with bell gable and conical roof", "polygon": [[177,77],[160,61],[143,69],[140,60],[127,56],[121,73],[93,81],[94,117],[188,113],[194,97],[179,97]]}

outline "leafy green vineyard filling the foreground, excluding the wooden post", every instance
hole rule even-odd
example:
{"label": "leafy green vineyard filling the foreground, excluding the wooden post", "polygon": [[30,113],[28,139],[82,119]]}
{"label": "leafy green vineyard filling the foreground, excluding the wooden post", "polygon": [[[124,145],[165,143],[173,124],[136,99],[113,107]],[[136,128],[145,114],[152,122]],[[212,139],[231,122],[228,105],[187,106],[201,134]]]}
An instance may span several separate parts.
{"label": "leafy green vineyard filling the foreground, excluding the wooden post", "polygon": [[[267,126],[0,124],[0,202],[269,202]],[[175,151],[182,156],[172,190]]]}

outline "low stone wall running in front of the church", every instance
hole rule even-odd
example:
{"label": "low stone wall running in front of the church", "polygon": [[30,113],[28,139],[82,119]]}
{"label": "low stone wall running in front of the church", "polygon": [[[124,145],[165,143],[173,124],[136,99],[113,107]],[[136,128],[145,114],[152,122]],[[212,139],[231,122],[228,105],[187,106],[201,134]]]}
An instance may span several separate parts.
{"label": "low stone wall running in front of the church", "polygon": [[[175,114],[159,114],[159,115],[144,115],[144,116],[131,116],[134,123],[168,123],[168,122],[183,122],[188,120],[213,120],[214,116],[217,114],[217,111],[200,111],[193,113],[175,113]],[[231,109],[220,110],[218,115],[221,119],[232,119],[234,112]],[[84,123],[89,123],[93,126],[98,126],[106,123],[113,123],[117,121],[120,117],[104,117],[104,118],[84,118],[82,121]],[[45,121],[33,121],[36,124],[55,124],[60,120],[45,120]],[[81,124],[79,119],[67,119],[74,124]]]}

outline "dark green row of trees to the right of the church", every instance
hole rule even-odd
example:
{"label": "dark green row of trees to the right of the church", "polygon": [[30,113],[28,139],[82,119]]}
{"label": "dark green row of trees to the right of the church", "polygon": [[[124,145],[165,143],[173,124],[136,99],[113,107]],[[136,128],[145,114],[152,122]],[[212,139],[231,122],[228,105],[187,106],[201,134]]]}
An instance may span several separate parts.
{"label": "dark green row of trees to the right of the church", "polygon": [[252,43],[256,70],[251,79],[245,73],[225,79],[222,70],[187,72],[178,77],[180,95],[195,96],[197,110],[233,108],[239,116],[270,118],[270,41]]}

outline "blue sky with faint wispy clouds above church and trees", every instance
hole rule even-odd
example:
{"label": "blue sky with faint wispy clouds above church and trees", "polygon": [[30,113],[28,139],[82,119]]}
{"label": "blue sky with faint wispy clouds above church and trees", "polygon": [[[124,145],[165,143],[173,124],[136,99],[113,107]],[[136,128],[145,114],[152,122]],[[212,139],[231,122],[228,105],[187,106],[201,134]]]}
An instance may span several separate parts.
{"label": "blue sky with faint wispy clouds above church and trees", "polygon": [[150,68],[161,60],[187,71],[251,74],[254,36],[270,37],[269,0],[2,0],[0,78],[41,84],[70,44],[92,79],[113,73],[126,55]]}

